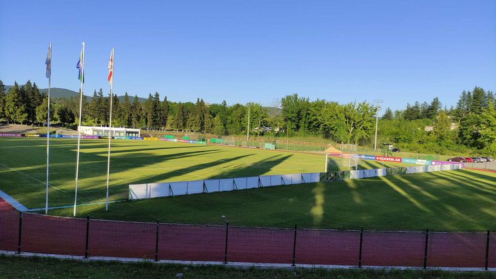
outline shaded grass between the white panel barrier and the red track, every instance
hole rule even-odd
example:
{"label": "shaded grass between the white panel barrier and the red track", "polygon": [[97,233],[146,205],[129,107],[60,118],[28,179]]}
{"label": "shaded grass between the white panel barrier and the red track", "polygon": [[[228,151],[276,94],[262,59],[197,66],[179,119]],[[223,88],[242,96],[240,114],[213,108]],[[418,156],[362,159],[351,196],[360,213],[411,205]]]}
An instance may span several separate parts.
{"label": "shaded grass between the white panel barrier and the red track", "polygon": [[[458,170],[79,207],[79,216],[333,229],[496,230],[496,174]],[[50,214],[71,216],[72,209]],[[221,216],[226,216],[222,218]]]}

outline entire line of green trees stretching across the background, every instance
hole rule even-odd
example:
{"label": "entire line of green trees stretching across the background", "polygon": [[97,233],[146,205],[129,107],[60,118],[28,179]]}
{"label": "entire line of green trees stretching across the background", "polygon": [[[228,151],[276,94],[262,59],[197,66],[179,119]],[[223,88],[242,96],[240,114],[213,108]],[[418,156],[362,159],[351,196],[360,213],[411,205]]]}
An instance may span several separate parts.
{"label": "entire line of green trees stretching across the background", "polygon": [[[36,83],[14,86],[5,92],[0,81],[0,118],[8,123],[45,123],[47,101]],[[379,143],[393,143],[417,152],[443,154],[469,149],[496,153],[494,94],[475,87],[459,96],[456,107],[442,109],[435,97],[431,102],[407,103],[404,110],[386,107],[378,125]],[[274,100],[270,107],[260,103],[227,105],[172,102],[167,96],[149,94],[145,102],[127,92],[120,101],[112,99],[112,125],[145,130],[209,133],[223,136],[250,133],[262,136],[320,136],[338,143],[371,145],[375,114],[380,107],[367,101],[340,104],[335,101],[289,94]],[[74,125],[79,121],[79,98],[52,100],[52,121]],[[94,90],[83,98],[83,125],[107,126],[110,121],[110,94]],[[493,121],[493,122],[491,122]]]}

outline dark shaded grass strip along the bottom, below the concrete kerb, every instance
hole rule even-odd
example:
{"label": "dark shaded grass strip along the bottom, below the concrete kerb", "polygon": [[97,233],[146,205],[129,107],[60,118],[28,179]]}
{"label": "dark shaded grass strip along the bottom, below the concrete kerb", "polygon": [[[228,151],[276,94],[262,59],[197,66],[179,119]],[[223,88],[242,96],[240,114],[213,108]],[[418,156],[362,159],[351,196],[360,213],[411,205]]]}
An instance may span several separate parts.
{"label": "dark shaded grass strip along the bottom, below the concrete kerb", "polygon": [[236,269],[225,266],[101,262],[0,256],[1,278],[496,278],[490,272]]}

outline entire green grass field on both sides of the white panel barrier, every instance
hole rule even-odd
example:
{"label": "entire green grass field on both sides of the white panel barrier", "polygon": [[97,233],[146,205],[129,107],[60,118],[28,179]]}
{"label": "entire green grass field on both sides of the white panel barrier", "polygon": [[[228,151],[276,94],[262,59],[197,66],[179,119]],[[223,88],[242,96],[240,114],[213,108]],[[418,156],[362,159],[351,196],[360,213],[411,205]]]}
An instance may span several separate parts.
{"label": "entire green grass field on both sides of the white panel barrier", "polygon": [[[0,138],[0,189],[45,205],[46,141]],[[76,140],[50,141],[50,206],[74,203]],[[81,141],[78,203],[105,200],[107,141]],[[110,200],[136,183],[322,172],[324,156],[161,141],[112,141]],[[331,169],[345,168],[335,159]],[[381,167],[361,161],[360,168]],[[385,166],[400,164],[388,163]],[[81,206],[79,216],[154,222],[231,222],[292,227],[496,229],[495,174],[435,172]],[[50,214],[70,216],[72,209]],[[220,216],[226,216],[221,218]]]}

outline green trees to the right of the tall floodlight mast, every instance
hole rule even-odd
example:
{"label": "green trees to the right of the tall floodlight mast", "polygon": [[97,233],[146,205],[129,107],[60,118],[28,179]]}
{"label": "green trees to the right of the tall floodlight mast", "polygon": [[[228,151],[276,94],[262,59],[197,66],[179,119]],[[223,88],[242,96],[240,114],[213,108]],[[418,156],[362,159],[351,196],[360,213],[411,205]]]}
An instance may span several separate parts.
{"label": "green trees to the right of the tall floodlight mast", "polygon": [[441,110],[437,98],[406,110],[388,108],[379,124],[380,138],[417,152],[496,154],[494,102],[493,92],[475,87],[463,91],[449,109]]}

